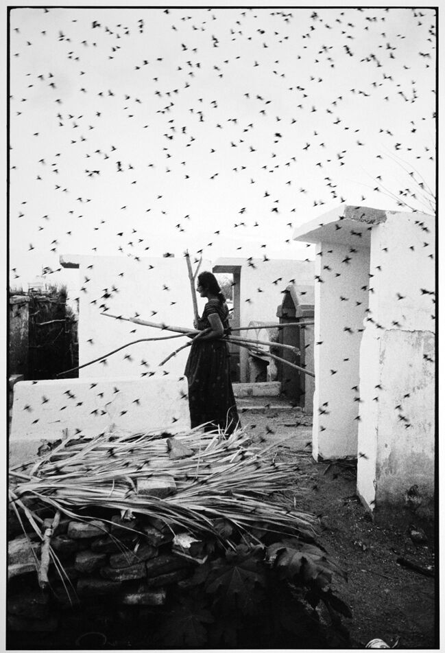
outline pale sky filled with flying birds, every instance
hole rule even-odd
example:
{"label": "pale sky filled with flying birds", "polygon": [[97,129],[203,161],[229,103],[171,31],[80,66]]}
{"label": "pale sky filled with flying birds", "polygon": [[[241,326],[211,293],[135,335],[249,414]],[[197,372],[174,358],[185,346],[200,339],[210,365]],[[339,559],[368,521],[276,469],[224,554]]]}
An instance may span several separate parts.
{"label": "pale sky filled with flying birds", "polygon": [[10,44],[10,286],[67,253],[304,260],[293,229],[341,202],[432,212],[433,10],[18,8]]}

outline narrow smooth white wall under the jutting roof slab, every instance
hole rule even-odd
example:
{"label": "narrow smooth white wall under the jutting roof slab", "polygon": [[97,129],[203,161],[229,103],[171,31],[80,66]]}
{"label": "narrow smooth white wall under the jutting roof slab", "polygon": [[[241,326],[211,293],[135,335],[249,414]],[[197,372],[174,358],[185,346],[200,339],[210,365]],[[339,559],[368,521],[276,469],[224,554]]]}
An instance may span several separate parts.
{"label": "narrow smooth white wall under the jutting roof slab", "polygon": [[[351,253],[346,245],[316,245],[315,275],[322,281],[315,281],[315,459],[357,455],[359,402],[354,399],[359,393],[354,387],[359,386],[370,259],[367,247],[354,249]],[[348,263],[345,257],[350,257]]]}

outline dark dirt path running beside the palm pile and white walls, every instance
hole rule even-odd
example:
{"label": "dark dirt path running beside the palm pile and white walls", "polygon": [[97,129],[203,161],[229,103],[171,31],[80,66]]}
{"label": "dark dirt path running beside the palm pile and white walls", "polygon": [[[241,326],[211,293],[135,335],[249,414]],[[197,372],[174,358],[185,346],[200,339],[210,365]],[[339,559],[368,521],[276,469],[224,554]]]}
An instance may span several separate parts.
{"label": "dark dirt path running beside the palm pile and white walls", "polygon": [[295,459],[309,474],[309,492],[296,501],[302,510],[321,516],[320,542],[348,571],[348,582],[336,582],[335,593],[352,610],[352,619],[343,619],[352,648],[376,637],[389,645],[398,642],[398,648],[435,648],[435,579],[396,562],[402,557],[434,565],[431,529],[407,513],[407,527],[414,523],[429,535],[426,545],[416,545],[407,527],[373,524],[355,496],[354,463],[313,460],[310,415],[266,409],[241,412],[241,419],[256,444],[276,444],[278,459]]}

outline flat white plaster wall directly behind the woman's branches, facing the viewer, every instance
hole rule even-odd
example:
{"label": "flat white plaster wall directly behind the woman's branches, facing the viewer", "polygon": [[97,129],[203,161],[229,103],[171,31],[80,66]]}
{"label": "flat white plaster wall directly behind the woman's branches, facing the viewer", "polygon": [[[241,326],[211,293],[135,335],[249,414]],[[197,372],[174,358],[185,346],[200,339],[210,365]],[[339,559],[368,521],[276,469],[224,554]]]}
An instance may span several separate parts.
{"label": "flat white plaster wall directly behind the woman's branches, facing the viewer", "polygon": [[[142,338],[172,335],[158,329],[136,325],[131,322],[104,317],[108,313],[165,323],[167,325],[193,328],[193,304],[187,264],[184,257],[134,259],[117,256],[81,256],[80,310],[79,310],[79,364],[84,365],[121,345]],[[93,266],[93,267],[91,267]],[[195,269],[195,264],[193,264]],[[211,264],[203,261],[200,271],[211,270]],[[168,289],[164,289],[166,286]],[[113,290],[113,287],[117,290]],[[110,297],[104,297],[108,289]],[[198,308],[205,301],[199,296]],[[152,313],[155,314],[152,314]],[[178,378],[184,373],[189,349],[171,358],[163,367],[161,360],[187,342],[181,338],[143,342],[125,347],[106,359],[106,363],[93,363],[80,369],[80,378],[99,376],[141,376],[154,372],[156,376]]]}

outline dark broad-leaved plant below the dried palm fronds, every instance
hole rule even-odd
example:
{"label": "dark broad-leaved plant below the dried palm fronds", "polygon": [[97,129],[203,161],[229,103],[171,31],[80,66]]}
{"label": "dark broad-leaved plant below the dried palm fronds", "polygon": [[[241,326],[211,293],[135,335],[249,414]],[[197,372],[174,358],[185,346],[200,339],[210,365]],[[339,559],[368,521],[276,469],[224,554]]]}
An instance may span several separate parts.
{"label": "dark broad-leaved plant below the dried palm fronds", "polygon": [[[267,549],[241,542],[224,556],[217,549],[214,553],[213,560],[195,569],[180,604],[164,621],[159,632],[164,645],[194,641],[229,648],[295,648],[303,642],[324,648],[332,637],[348,641],[338,615],[350,617],[350,609],[330,588],[333,574],[346,574],[322,549],[285,538]],[[320,599],[329,610],[330,626],[320,621]],[[206,621],[208,613],[212,621]]]}

